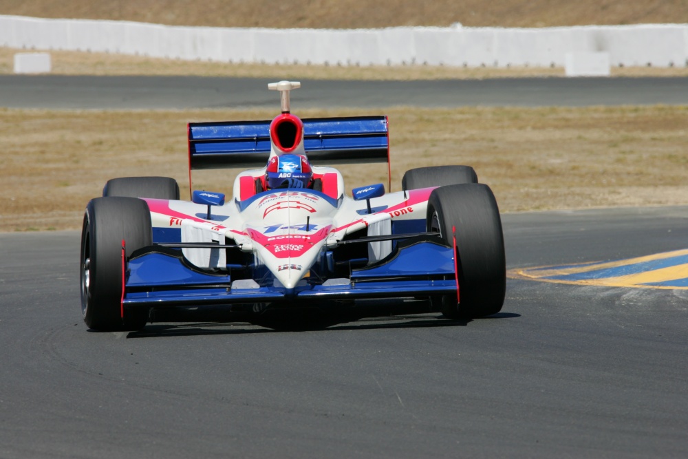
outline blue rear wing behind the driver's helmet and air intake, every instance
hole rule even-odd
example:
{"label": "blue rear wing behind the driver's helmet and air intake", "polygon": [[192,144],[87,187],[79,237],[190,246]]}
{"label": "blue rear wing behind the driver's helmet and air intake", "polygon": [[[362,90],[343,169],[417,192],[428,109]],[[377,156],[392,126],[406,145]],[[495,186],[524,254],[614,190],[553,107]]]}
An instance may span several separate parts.
{"label": "blue rear wing behind the driver's helmet and air intake", "polygon": [[[303,119],[303,146],[315,166],[389,164],[386,116]],[[264,167],[270,121],[190,122],[189,169]]]}

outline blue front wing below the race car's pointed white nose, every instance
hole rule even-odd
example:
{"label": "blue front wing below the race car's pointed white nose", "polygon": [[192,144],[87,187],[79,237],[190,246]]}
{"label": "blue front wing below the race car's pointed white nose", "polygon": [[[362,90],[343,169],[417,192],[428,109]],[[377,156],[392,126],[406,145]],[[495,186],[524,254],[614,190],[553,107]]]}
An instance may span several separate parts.
{"label": "blue front wing below the race car's pointed white nose", "polygon": [[181,250],[144,248],[127,263],[122,313],[133,308],[217,307],[246,303],[310,302],[394,297],[457,295],[458,281],[452,247],[429,238],[398,244],[385,259],[352,269],[350,277],[307,277],[286,289],[270,277],[232,279],[202,271],[184,259]]}

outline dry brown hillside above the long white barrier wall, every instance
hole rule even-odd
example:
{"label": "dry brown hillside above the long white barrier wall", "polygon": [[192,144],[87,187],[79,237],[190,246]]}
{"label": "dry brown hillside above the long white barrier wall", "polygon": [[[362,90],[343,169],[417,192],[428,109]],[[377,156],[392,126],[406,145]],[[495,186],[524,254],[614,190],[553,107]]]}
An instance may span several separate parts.
{"label": "dry brown hillside above the long white barrier wall", "polygon": [[688,23],[687,0],[3,0],[0,14],[170,25],[384,28]]}

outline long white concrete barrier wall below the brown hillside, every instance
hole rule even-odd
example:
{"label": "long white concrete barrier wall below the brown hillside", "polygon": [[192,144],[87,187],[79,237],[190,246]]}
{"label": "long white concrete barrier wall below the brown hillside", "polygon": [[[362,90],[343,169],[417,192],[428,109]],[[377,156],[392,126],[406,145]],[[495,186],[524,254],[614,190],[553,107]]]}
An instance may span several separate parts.
{"label": "long white concrete barrier wall below the brown hillside", "polygon": [[328,65],[565,65],[607,52],[612,66],[688,66],[688,24],[371,30],[175,27],[0,16],[0,46],[184,60]]}

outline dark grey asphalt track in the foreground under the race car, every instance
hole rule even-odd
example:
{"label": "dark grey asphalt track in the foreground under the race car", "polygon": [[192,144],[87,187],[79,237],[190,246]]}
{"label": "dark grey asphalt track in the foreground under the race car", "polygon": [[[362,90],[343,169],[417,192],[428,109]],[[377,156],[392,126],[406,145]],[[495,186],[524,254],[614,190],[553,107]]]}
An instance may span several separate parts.
{"label": "dark grey asphalt track in the foreground under the race car", "polygon": [[[508,268],[685,248],[688,207],[503,215]],[[688,457],[688,291],[509,279],[501,313],[87,331],[76,232],[0,234],[0,457]]]}

